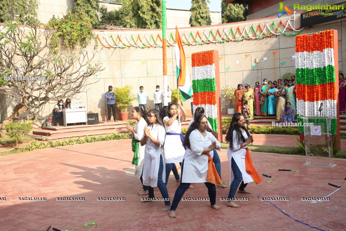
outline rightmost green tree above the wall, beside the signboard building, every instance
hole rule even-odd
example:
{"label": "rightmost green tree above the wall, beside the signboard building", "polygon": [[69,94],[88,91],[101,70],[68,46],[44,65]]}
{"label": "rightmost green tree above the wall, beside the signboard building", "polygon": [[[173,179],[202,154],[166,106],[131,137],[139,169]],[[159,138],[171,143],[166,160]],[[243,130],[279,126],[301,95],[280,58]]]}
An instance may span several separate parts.
{"label": "rightmost green tree above the wall, beside the signboard building", "polygon": [[222,23],[235,23],[245,21],[247,16],[248,6],[242,4],[226,3],[226,0],[221,0],[221,17]]}

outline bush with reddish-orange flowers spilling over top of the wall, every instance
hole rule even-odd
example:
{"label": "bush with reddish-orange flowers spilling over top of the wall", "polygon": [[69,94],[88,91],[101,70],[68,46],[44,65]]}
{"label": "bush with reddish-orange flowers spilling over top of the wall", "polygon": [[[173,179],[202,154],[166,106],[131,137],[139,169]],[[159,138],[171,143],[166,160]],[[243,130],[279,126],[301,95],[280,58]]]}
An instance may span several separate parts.
{"label": "bush with reddish-orange flowers spilling over top of the wall", "polygon": [[60,48],[74,50],[77,46],[86,47],[86,44],[95,39],[91,30],[91,24],[83,21],[83,17],[69,12],[63,18],[51,18],[47,27],[56,30],[52,38],[53,51]]}

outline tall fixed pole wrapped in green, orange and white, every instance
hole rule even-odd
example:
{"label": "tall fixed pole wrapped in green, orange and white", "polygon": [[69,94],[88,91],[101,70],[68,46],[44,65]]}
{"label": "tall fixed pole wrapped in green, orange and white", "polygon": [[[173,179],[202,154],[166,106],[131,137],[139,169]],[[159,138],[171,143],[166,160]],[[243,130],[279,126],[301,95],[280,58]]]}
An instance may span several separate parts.
{"label": "tall fixed pole wrapped in green, orange and white", "polygon": [[167,99],[167,41],[166,41],[166,30],[167,30],[167,19],[166,19],[166,0],[162,0],[162,57],[163,57],[163,106],[168,106]]}

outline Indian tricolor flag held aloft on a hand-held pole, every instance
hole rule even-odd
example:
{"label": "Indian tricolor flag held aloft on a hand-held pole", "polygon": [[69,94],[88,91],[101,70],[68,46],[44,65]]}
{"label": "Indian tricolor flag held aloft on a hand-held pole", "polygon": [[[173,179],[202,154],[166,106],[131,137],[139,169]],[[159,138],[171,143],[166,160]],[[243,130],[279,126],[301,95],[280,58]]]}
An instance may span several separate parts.
{"label": "Indian tricolor flag held aloft on a hand-held pole", "polygon": [[188,69],[188,64],[185,59],[185,52],[183,44],[178,32],[178,28],[175,27],[175,61],[176,61],[176,76],[178,82],[178,88],[184,101],[191,98],[191,81]]}

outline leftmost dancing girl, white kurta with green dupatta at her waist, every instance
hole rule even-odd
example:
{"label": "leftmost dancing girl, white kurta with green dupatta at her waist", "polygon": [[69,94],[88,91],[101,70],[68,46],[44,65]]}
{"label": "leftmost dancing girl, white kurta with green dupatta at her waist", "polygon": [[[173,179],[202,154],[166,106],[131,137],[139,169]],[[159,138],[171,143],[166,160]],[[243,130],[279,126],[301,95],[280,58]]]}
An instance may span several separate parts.
{"label": "leftmost dancing girl, white kurta with green dupatta at her waist", "polygon": [[131,116],[136,119],[137,123],[134,127],[126,125],[126,129],[132,133],[132,151],[135,153],[132,164],[135,165],[135,177],[138,177],[142,182],[143,191],[137,193],[138,195],[148,194],[148,186],[143,185],[143,163],[144,163],[144,150],[145,145],[139,145],[140,140],[144,136],[144,127],[147,125],[144,117],[146,118],[146,111],[142,107],[134,107]]}

